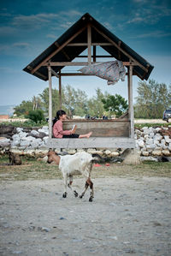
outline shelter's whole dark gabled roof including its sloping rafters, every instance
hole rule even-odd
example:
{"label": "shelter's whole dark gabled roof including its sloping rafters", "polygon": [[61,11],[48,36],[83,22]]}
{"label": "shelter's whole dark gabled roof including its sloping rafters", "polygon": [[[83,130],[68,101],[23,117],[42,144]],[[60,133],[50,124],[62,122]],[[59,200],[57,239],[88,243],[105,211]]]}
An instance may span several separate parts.
{"label": "shelter's whole dark gabled roof including its sloping rafters", "polygon": [[[91,26],[91,45],[100,45],[111,57],[122,62],[137,63],[133,66],[133,74],[139,76],[141,80],[147,80],[154,68],[137,52],[133,51],[115,34],[103,27],[91,15],[86,13],[79,21],[62,34],[59,39],[29,63],[23,70],[33,74],[42,80],[48,80],[48,68],[44,63],[72,62],[88,47],[87,26]],[[75,45],[74,45],[75,44]],[[64,66],[54,66],[53,70],[58,73]]]}

